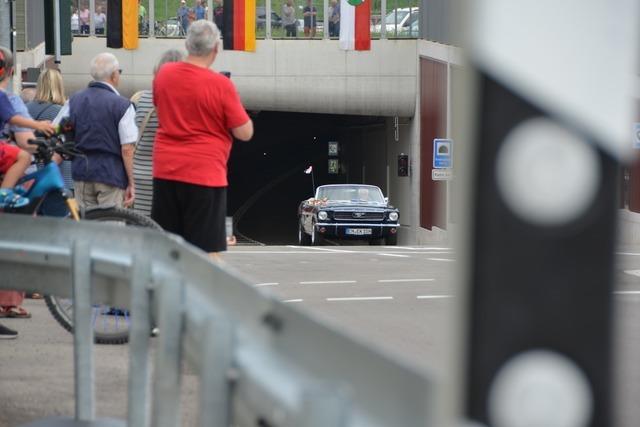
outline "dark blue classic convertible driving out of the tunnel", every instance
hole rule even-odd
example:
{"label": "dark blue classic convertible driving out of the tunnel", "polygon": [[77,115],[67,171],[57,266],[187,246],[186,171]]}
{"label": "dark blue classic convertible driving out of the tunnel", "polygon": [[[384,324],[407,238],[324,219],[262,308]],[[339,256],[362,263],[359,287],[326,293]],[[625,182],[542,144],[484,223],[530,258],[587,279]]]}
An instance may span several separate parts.
{"label": "dark blue classic convertible driving out of the tunnel", "polygon": [[304,200],[298,207],[298,242],[321,245],[329,237],[396,245],[399,216],[398,209],[389,205],[379,187],[322,185],[315,197]]}

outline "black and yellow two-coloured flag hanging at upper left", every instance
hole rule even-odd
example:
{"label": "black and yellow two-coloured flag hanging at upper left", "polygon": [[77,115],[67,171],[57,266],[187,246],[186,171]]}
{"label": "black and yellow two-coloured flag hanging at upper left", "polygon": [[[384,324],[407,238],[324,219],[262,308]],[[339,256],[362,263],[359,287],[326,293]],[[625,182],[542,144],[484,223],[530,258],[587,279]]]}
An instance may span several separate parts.
{"label": "black and yellow two-coloured flag hanging at upper left", "polygon": [[138,0],[108,1],[107,47],[138,48]]}

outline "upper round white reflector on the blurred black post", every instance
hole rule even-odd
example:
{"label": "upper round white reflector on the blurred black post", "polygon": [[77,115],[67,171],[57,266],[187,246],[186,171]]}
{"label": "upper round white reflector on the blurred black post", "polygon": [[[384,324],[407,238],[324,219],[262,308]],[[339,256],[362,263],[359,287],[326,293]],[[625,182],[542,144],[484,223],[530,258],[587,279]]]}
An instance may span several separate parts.
{"label": "upper round white reflector on the blurred black post", "polygon": [[498,152],[496,180],[502,199],[523,220],[542,226],[579,218],[600,182],[593,147],[550,119],[525,121]]}

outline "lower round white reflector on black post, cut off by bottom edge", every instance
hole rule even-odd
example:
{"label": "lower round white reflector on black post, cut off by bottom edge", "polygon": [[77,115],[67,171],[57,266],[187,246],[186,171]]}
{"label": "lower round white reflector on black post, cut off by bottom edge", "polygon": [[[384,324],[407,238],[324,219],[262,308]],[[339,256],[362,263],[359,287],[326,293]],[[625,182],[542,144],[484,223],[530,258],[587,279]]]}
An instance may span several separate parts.
{"label": "lower round white reflector on black post, cut off by bottom edge", "polygon": [[498,371],[488,409],[493,427],[585,427],[593,396],[574,362],[551,351],[533,350]]}

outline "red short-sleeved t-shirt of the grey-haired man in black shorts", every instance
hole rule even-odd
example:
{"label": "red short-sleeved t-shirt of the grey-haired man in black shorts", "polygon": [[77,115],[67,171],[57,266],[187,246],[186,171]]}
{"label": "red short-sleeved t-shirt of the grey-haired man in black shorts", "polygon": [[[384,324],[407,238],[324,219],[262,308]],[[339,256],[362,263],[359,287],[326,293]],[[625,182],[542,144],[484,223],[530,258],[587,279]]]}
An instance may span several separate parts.
{"label": "red short-sleeved t-shirt of the grey-haired man in black shorts", "polygon": [[164,64],[153,81],[153,103],[153,177],[226,187],[230,129],[249,121],[231,80],[186,62]]}

